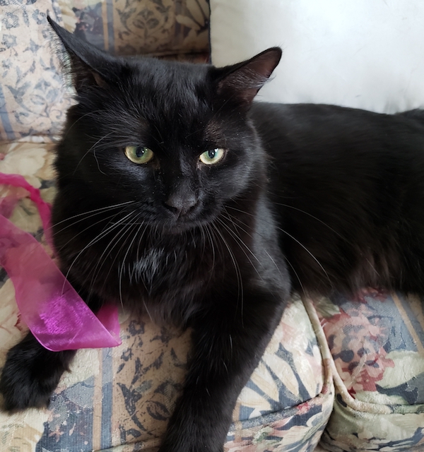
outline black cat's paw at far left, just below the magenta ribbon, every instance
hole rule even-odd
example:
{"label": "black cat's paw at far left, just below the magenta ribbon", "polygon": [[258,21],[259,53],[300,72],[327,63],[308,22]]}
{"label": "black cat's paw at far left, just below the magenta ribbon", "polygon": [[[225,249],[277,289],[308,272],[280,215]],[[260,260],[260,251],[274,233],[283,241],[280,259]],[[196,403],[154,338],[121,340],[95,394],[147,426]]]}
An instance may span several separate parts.
{"label": "black cat's paw at far left, just below the magenta ribbon", "polygon": [[1,371],[2,408],[17,412],[26,408],[47,407],[73,355],[73,350],[50,352],[28,333],[8,351]]}

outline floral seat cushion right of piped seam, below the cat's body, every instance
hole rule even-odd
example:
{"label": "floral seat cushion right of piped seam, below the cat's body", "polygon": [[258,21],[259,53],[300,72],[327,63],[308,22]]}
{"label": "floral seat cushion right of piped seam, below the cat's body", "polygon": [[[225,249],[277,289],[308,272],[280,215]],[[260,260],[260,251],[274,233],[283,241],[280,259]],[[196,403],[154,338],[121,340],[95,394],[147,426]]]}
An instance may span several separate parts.
{"label": "floral seat cushion right of piped seam, below the cat's body", "polygon": [[319,303],[336,385],[327,450],[424,450],[423,307],[378,290]]}

